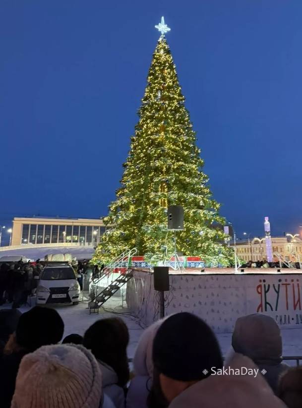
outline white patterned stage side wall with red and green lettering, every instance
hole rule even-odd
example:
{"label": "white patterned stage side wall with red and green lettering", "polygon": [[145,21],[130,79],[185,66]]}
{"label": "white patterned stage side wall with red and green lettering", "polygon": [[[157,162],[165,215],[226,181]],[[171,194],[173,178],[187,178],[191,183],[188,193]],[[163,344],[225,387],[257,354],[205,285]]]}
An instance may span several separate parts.
{"label": "white patterned stage side wall with red and green lettering", "polygon": [[[215,333],[230,333],[238,317],[264,313],[282,328],[302,327],[302,272],[299,269],[231,268],[170,269],[165,314],[192,312]],[[127,306],[143,325],[159,319],[159,292],[150,269],[133,269],[127,283]]]}

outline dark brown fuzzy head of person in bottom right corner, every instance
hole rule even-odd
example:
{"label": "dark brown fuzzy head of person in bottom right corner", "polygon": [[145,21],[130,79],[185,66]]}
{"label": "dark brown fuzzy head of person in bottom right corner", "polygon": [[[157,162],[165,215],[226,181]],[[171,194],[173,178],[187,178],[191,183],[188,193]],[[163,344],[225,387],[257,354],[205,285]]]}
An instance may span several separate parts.
{"label": "dark brown fuzzy head of person in bottom right corner", "polygon": [[277,395],[288,408],[302,407],[302,367],[289,368],[281,375]]}

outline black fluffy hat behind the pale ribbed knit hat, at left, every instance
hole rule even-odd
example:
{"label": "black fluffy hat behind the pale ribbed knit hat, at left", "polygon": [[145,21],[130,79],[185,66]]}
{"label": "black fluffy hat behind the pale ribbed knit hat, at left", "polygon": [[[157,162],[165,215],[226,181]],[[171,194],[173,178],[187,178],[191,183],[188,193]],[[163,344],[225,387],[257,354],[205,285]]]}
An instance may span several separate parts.
{"label": "black fluffy hat behind the pale ribbed knit hat, at left", "polygon": [[35,306],[20,316],[16,340],[19,346],[35,351],[59,343],[63,332],[63,320],[55,309]]}

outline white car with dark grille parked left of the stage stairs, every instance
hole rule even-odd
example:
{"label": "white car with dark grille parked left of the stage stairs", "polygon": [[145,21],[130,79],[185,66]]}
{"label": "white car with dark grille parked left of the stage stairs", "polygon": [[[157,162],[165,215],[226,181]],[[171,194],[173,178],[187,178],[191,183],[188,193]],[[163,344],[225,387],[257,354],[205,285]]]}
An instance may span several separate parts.
{"label": "white car with dark grille parked left of the stage stairs", "polygon": [[78,304],[80,285],[73,268],[68,263],[45,266],[37,287],[37,304]]}

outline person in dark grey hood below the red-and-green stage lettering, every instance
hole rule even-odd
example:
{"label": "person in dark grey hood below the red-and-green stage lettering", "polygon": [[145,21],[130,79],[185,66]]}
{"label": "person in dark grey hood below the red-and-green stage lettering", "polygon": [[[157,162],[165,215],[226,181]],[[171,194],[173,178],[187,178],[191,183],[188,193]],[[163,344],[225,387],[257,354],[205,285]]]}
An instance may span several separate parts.
{"label": "person in dark grey hood below the red-and-green stage lettering", "polygon": [[265,369],[264,378],[277,392],[280,374],[289,367],[282,361],[282,337],[276,321],[264,314],[255,313],[237,319],[232,347]]}

